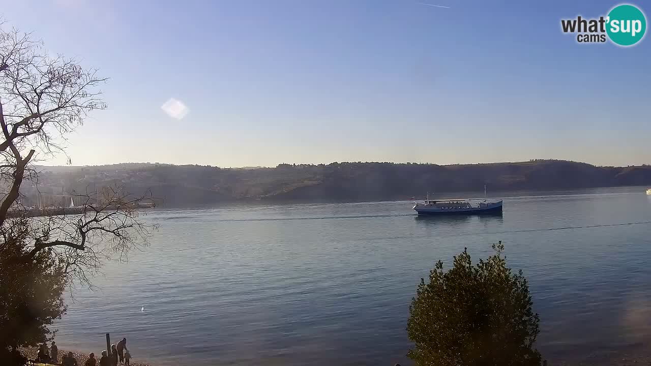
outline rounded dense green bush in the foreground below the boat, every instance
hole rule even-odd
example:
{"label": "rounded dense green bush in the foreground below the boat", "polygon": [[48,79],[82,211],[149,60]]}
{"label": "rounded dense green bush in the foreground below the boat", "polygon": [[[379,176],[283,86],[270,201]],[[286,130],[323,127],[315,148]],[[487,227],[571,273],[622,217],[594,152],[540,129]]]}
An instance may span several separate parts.
{"label": "rounded dense green bush in the foreground below the boat", "polygon": [[473,266],[467,249],[443,271],[439,260],[429,282],[421,279],[409,307],[407,331],[417,365],[533,366],[544,364],[534,348],[540,332],[527,279],[495,255]]}

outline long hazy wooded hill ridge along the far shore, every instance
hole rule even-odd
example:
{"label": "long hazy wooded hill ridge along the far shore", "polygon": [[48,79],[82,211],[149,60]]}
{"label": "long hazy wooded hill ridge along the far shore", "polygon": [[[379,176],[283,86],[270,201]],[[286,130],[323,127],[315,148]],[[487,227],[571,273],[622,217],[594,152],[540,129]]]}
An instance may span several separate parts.
{"label": "long hazy wooded hill ridge along the far shore", "polygon": [[[72,190],[122,183],[150,189],[163,206],[204,206],[238,199],[367,201],[422,197],[427,191],[570,190],[651,185],[651,166],[597,167],[564,160],[467,165],[344,162],[255,169],[124,163],[38,167],[39,190],[61,199]],[[29,201],[30,191],[23,192]],[[26,202],[29,203],[29,202]]]}

